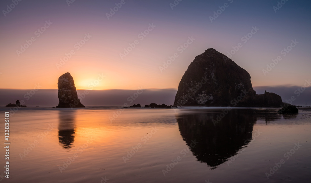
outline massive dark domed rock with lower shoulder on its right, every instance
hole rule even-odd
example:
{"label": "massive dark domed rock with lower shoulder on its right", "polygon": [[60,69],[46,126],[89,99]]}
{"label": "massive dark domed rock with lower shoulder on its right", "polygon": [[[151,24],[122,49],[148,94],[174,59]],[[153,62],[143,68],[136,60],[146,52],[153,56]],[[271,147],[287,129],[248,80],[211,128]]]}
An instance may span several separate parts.
{"label": "massive dark domed rock with lower shoulder on its right", "polygon": [[280,107],[279,95],[256,94],[248,72],[214,48],[195,57],[183,75],[177,106]]}

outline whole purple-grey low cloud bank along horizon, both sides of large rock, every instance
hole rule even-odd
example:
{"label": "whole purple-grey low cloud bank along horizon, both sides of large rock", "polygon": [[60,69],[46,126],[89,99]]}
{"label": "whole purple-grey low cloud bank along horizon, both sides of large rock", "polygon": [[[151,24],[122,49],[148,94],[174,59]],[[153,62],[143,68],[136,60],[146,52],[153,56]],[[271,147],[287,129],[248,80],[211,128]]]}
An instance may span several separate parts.
{"label": "whole purple-grey low cloud bank along horizon, both sides of large rock", "polygon": [[[263,94],[265,90],[276,93],[282,97],[283,102],[293,105],[311,105],[311,87],[304,89],[301,86],[262,86],[254,87],[254,90],[257,94]],[[85,92],[86,95],[84,95]],[[39,89],[38,91],[0,89],[0,106],[15,103],[16,100],[24,100],[29,107],[55,107],[58,105],[57,93],[57,89]],[[142,93],[138,92],[141,94],[138,94],[137,90],[78,90],[77,93],[81,103],[85,106],[122,106],[124,103],[128,105],[139,103],[144,106],[150,103],[173,105],[177,90],[145,89]],[[291,101],[292,99],[295,100]]]}

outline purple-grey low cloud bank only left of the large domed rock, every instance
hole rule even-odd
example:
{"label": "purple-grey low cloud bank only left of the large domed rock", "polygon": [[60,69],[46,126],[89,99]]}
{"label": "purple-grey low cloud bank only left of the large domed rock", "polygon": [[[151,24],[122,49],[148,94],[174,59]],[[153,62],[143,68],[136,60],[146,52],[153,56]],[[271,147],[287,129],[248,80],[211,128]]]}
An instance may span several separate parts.
{"label": "purple-grey low cloud bank only left of the large domed rock", "polygon": [[[85,106],[123,106],[141,104],[149,105],[150,103],[173,105],[176,89],[145,89],[137,90],[77,90],[78,98]],[[86,93],[86,94],[85,94]],[[39,89],[16,90],[16,89],[0,89],[0,106],[8,103],[15,103],[16,100],[24,100],[27,106],[57,106],[58,90],[57,89]]]}

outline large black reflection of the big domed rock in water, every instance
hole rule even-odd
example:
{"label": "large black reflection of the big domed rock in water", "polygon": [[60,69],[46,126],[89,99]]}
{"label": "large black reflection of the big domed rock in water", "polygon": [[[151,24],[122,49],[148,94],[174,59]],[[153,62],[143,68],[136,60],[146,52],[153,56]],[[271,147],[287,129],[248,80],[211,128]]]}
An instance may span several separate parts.
{"label": "large black reflection of the big domed rock in water", "polygon": [[[246,148],[258,118],[266,122],[281,118],[271,111],[233,109],[214,125],[212,119],[216,120],[221,112],[221,109],[215,109],[176,116],[179,131],[193,155],[212,169]],[[192,140],[198,142],[194,147],[190,146]]]}

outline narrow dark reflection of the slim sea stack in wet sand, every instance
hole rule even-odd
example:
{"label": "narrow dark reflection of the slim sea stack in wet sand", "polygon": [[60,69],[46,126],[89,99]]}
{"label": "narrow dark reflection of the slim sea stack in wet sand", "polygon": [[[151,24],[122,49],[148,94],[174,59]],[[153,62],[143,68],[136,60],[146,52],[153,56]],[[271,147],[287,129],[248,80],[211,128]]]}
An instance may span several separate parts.
{"label": "narrow dark reflection of the slim sea stack in wet sand", "polygon": [[58,113],[58,140],[65,149],[72,148],[75,135],[75,110],[60,110]]}

